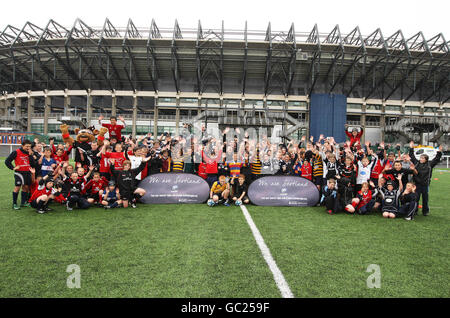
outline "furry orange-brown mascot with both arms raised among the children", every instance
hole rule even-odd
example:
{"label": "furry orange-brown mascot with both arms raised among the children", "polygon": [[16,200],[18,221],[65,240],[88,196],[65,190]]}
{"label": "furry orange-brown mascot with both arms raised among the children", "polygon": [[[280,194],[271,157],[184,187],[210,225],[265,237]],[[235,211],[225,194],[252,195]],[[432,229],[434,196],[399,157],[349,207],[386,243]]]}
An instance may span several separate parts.
{"label": "furry orange-brown mascot with both arms raised among the children", "polygon": [[69,133],[69,126],[63,124],[60,126],[62,137],[64,143],[68,143],[75,149],[75,162],[81,163],[83,166],[90,165],[88,161],[89,156],[85,155],[92,150],[91,143],[95,141],[95,136],[97,136],[97,144],[99,147],[103,146],[103,141],[105,140],[105,134],[108,132],[108,128],[102,127],[100,130],[94,127],[75,129],[75,134],[77,135],[76,140],[74,140]]}

